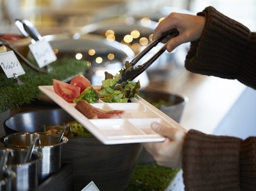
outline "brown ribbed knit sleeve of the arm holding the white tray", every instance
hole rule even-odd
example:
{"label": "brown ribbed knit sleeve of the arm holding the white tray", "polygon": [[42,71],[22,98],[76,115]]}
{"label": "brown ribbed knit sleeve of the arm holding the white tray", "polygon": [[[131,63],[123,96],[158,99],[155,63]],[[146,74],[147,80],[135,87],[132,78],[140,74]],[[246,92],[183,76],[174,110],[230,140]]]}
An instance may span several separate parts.
{"label": "brown ribbed knit sleeve of the arm holding the white tray", "polygon": [[189,130],[182,154],[186,191],[255,190],[256,138],[207,135]]}

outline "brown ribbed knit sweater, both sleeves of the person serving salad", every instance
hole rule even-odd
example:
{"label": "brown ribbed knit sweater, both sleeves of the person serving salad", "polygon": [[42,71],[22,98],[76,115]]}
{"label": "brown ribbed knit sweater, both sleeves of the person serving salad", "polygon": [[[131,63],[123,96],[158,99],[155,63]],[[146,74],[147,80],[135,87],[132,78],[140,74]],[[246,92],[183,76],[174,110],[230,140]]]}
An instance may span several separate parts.
{"label": "brown ribbed knit sweater, both sleeves of the person serving salad", "polygon": [[[256,33],[213,7],[203,34],[191,43],[185,67],[195,73],[237,79],[256,89]],[[256,127],[252,127],[256,128]],[[256,190],[256,137],[206,135],[189,130],[183,146],[187,191]]]}

